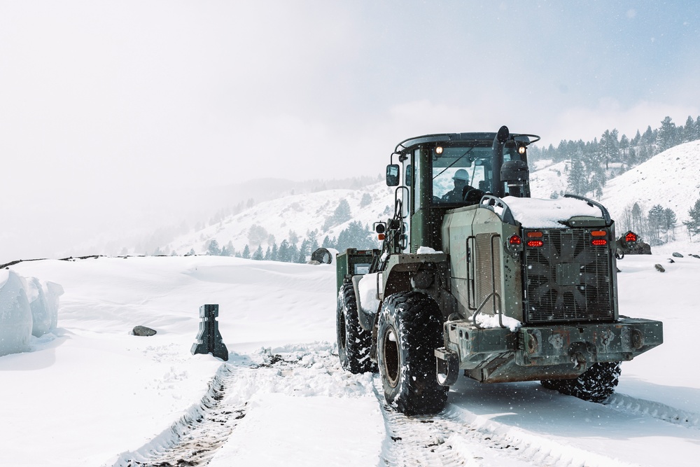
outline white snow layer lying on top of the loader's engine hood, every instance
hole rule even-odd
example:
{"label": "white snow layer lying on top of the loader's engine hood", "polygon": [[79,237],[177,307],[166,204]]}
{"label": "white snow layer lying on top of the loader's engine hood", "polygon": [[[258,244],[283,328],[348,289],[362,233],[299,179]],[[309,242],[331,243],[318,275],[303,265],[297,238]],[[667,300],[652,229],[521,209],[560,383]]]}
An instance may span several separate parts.
{"label": "white snow layer lying on top of the loader's engine hood", "polygon": [[509,196],[503,201],[510,207],[515,220],[524,228],[561,228],[559,221],[566,221],[573,216],[603,216],[597,207],[589,206],[575,198],[540,200]]}

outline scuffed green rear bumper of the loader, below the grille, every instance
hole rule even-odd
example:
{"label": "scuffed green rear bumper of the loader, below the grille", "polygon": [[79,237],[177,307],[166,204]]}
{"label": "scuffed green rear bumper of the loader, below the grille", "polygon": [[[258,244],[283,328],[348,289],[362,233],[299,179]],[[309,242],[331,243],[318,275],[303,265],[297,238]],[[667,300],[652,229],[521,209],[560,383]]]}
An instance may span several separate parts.
{"label": "scuffed green rear bumper of the loader, below the grille", "polygon": [[438,372],[449,376],[444,378],[447,382],[456,379],[451,374],[456,370],[493,368],[506,362],[524,370],[524,379],[532,379],[540,374],[538,368],[546,372],[556,365],[572,365],[583,371],[591,363],[629,361],[664,342],[663,334],[661,321],[626,316],[615,323],[523,326],[514,332],[448,321],[444,347],[435,350],[435,357]]}

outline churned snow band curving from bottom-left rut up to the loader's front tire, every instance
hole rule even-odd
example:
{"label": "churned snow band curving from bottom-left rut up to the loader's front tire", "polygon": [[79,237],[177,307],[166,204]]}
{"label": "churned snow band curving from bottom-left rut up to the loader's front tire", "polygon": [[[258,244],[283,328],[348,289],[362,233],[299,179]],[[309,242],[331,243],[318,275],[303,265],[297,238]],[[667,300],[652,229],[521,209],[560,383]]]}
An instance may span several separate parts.
{"label": "churned snow band curving from bottom-left rut up to the loader's front tire", "polygon": [[223,363],[199,403],[143,447],[121,454],[113,467],[207,465],[246,416],[246,401],[260,391],[300,396],[371,394],[371,377],[342,370],[328,344],[290,345],[277,351],[261,349],[257,355],[237,355]]}

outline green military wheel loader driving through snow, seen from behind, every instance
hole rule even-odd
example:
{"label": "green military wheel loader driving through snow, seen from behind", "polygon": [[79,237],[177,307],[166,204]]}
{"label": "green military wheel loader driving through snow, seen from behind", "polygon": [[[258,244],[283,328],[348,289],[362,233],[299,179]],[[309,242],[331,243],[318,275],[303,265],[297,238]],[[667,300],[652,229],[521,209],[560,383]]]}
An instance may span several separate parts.
{"label": "green military wheel loader driving through snow, seen from behind", "polygon": [[620,362],[663,342],[660,321],[618,312],[618,247],[636,235],[616,239],[585,197],[530,197],[538,139],[504,126],[402,141],[386,170],[395,214],[374,225],[381,249],[337,256],[340,361],[378,368],[400,412],[440,412],[460,372],[601,402]]}

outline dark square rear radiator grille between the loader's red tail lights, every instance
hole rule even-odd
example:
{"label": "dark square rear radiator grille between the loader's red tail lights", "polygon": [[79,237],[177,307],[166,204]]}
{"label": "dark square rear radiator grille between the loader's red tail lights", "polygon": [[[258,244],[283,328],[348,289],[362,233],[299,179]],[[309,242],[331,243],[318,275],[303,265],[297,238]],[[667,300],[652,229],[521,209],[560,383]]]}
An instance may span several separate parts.
{"label": "dark square rear radiator grille between the loader's red tail lights", "polygon": [[608,247],[591,245],[585,229],[541,232],[543,245],[524,252],[528,323],[612,320]]}

